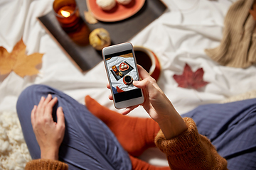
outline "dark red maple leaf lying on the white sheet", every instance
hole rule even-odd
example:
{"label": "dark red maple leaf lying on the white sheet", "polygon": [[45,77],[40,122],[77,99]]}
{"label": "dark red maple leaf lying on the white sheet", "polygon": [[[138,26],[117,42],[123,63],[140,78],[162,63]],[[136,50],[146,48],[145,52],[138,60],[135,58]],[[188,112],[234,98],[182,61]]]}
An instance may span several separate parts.
{"label": "dark red maple leaf lying on the white sheet", "polygon": [[191,67],[186,64],[183,70],[183,74],[174,74],[174,79],[180,87],[199,89],[208,84],[208,82],[203,81],[203,74],[203,68],[199,68],[196,70],[196,72],[193,72]]}

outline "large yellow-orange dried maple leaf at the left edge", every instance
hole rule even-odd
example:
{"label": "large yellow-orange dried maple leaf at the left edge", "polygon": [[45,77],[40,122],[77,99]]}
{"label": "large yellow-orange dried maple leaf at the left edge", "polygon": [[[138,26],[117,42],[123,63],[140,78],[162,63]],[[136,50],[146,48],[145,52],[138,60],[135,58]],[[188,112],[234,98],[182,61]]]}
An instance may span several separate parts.
{"label": "large yellow-orange dried maple leaf at the left edge", "polygon": [[4,47],[0,47],[0,74],[16,72],[20,77],[38,74],[36,65],[42,62],[43,54],[33,53],[26,55],[26,45],[21,39],[9,53]]}

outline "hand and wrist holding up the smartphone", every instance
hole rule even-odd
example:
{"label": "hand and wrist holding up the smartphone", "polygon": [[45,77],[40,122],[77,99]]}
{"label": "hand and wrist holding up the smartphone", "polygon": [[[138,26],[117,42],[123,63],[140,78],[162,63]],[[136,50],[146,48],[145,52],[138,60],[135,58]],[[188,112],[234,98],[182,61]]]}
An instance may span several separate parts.
{"label": "hand and wrist holding up the smartphone", "polygon": [[[156,84],[156,81],[143,69],[137,65],[139,76],[142,81],[133,81],[134,86],[143,90],[144,103],[142,106],[154,119],[164,133],[166,139],[171,139],[187,129],[186,123],[181,118],[181,115],[175,110],[169,98],[166,97],[163,91]],[[110,89],[110,85],[107,85]],[[110,95],[112,100],[113,97]],[[126,115],[137,106],[126,108],[122,114]]]}

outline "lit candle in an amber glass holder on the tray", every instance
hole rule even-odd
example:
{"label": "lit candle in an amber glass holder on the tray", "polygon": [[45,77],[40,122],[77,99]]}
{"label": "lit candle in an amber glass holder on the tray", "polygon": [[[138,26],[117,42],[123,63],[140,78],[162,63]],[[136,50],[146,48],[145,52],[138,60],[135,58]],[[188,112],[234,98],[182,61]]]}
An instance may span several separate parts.
{"label": "lit candle in an amber glass holder on the tray", "polygon": [[55,0],[53,10],[63,30],[74,31],[79,27],[80,15],[75,0]]}

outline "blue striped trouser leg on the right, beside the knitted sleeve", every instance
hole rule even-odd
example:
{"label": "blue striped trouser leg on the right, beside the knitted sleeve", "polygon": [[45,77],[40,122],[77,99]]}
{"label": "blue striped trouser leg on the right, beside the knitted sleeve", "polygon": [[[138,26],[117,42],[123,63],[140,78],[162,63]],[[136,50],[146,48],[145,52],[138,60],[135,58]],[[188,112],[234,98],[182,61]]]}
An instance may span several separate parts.
{"label": "blue striped trouser leg on the right, beside the knitted sleeve", "polygon": [[256,98],[198,106],[181,116],[193,118],[229,170],[256,169]]}

